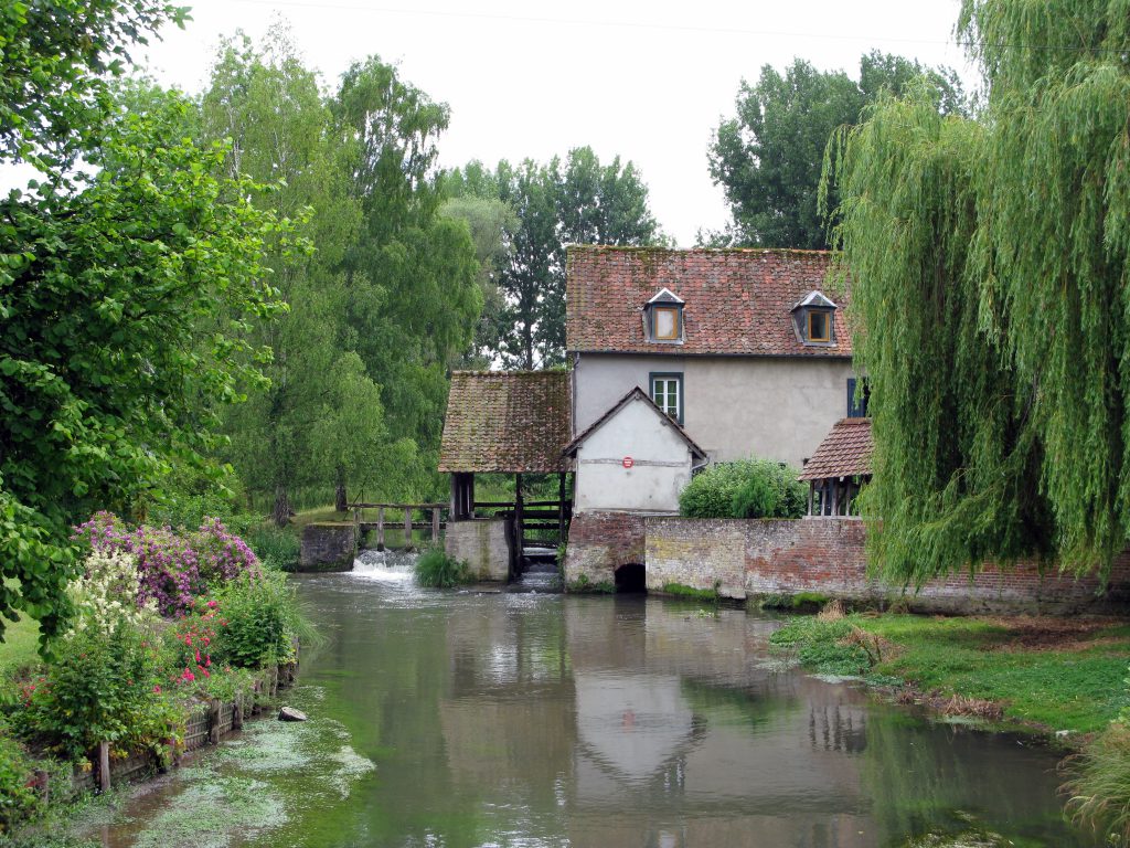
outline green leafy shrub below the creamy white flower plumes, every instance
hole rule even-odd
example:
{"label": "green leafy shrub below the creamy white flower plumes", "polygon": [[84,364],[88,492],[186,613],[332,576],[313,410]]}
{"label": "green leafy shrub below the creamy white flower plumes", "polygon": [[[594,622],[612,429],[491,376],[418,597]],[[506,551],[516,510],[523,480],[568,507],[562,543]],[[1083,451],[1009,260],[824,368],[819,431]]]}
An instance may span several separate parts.
{"label": "green leafy shrub below the creamy white flower plumes", "polygon": [[153,639],[130,626],[77,632],[46,672],[25,684],[14,728],[68,759],[87,756],[103,741],[119,750],[162,749],[181,717],[160,691]]}

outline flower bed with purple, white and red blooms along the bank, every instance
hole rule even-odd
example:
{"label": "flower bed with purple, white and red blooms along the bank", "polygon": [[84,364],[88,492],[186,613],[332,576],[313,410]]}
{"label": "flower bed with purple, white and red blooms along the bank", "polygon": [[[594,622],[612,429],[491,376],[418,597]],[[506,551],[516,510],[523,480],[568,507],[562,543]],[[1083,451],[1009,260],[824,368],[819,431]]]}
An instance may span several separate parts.
{"label": "flower bed with purple, white and red blooms along the bank", "polygon": [[98,513],[75,538],[88,553],[61,635],[0,682],[0,742],[24,751],[0,768],[0,795],[27,802],[0,806],[0,833],[34,813],[21,786],[73,794],[44,777],[70,771],[58,763],[75,763],[76,789],[165,768],[238,728],[297,665],[303,622],[286,577],[219,521],[177,534]]}

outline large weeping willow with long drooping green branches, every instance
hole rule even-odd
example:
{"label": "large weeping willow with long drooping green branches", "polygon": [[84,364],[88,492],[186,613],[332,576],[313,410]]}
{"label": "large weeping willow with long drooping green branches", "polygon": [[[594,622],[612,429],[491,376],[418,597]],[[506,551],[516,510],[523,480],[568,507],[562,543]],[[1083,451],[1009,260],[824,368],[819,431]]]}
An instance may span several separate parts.
{"label": "large weeping willow with long drooping green branches", "polygon": [[1127,544],[1128,31],[1130,0],[965,0],[982,112],[886,97],[829,145],[888,579]]}

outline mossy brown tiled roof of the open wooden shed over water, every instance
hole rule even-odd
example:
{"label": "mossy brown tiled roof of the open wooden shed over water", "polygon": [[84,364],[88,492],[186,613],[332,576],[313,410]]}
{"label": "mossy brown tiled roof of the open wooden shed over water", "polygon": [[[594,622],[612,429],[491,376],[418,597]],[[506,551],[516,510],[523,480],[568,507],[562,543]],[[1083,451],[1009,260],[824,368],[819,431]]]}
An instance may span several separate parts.
{"label": "mossy brown tiled roof of the open wooden shed over water", "polygon": [[440,445],[441,471],[564,471],[572,434],[565,371],[457,371]]}

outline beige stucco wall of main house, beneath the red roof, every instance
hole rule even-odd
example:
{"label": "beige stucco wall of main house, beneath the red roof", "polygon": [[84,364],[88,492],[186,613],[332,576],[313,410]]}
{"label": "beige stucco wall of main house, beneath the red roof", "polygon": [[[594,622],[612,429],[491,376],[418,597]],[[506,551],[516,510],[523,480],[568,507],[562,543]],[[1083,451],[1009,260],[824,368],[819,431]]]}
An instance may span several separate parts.
{"label": "beige stucco wall of main house, beneath the red roof", "polygon": [[574,431],[582,432],[655,372],[681,372],[684,426],[712,461],[750,455],[799,468],[847,414],[851,362],[832,357],[582,354]]}

